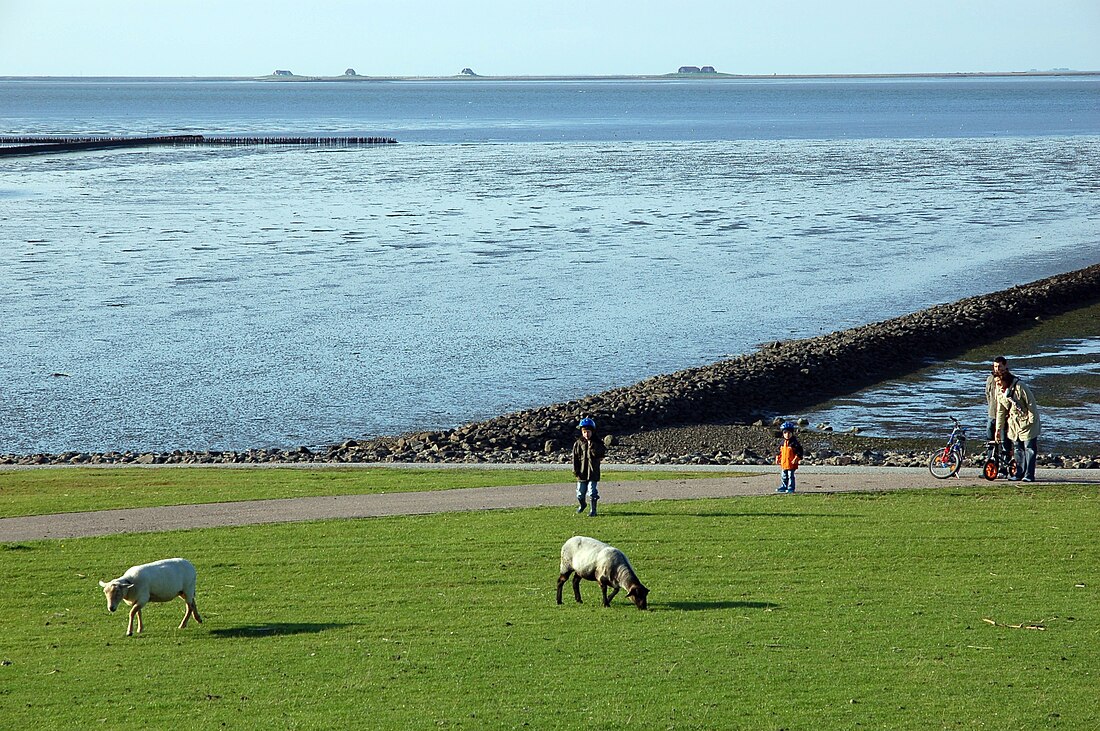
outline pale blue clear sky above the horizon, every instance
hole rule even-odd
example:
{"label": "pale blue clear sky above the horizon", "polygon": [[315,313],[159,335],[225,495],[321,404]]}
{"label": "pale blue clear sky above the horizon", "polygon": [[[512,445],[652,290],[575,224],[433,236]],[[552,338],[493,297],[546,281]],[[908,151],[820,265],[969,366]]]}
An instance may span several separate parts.
{"label": "pale blue clear sky above the horizon", "polygon": [[1100,70],[1100,0],[0,0],[0,76]]}

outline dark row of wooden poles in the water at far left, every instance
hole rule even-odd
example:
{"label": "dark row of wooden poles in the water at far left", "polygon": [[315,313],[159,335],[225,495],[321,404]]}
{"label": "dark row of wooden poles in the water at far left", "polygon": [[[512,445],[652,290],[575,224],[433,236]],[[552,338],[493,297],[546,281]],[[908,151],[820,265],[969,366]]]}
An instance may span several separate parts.
{"label": "dark row of wooden poles in the water at far left", "polygon": [[111,147],[194,146],[194,145],[309,145],[315,147],[358,147],[360,145],[392,145],[393,137],[248,137],[234,135],[207,136],[204,134],[172,134],[154,137],[106,136],[0,136],[0,156],[36,155],[42,153],[107,149]]}

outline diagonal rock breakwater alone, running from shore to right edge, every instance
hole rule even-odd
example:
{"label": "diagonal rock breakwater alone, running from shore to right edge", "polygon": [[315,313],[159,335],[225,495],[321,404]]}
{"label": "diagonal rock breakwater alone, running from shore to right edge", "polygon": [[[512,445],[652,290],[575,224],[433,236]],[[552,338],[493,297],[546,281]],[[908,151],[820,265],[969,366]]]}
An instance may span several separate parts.
{"label": "diagonal rock breakwater alone, running from shore to right edge", "polygon": [[[747,424],[796,413],[1097,301],[1100,264],[828,335],[774,342],[728,361],[453,430],[349,441],[330,447],[327,458],[562,462],[582,416],[614,435],[678,424]],[[647,457],[640,447],[620,451],[634,453],[610,456]]]}

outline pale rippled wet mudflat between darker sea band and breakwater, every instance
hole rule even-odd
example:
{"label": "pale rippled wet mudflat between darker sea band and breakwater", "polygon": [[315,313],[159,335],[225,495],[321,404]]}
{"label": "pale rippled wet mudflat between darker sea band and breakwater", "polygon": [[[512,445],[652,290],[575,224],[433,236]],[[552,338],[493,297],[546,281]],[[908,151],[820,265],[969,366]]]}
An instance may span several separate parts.
{"label": "pale rippled wet mudflat between darker sea band and breakwater", "polygon": [[1097,142],[13,158],[0,452],[454,425],[1092,264]]}

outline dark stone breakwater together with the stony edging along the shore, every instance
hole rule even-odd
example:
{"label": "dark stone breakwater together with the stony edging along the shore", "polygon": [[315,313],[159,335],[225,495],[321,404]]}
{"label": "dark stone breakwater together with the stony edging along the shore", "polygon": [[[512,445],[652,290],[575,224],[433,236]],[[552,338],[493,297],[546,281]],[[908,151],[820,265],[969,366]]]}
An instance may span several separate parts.
{"label": "dark stone breakwater together with the stony edging along the shore", "polygon": [[[612,442],[615,462],[756,464],[769,454],[751,423],[798,413],[823,400],[910,373],[1025,329],[1036,319],[1100,301],[1100,264],[1010,289],[941,304],[892,320],[806,340],[780,341],[728,361],[656,376],[583,399],[505,414],[457,429],[323,450],[59,454],[0,456],[0,464],[266,463],[266,462],[566,462],[575,425],[593,417]],[[741,436],[713,448],[679,444],[660,451],[645,435],[684,424],[745,424]],[[759,429],[759,428],[758,428]],[[738,440],[740,440],[740,443]],[[728,442],[726,440],[725,442]],[[886,450],[876,448],[887,445]],[[811,446],[811,445],[807,445]],[[813,450],[807,463],[924,464],[927,451],[891,450],[889,442]],[[1098,458],[1043,455],[1044,466],[1096,467]],[[836,464],[836,462],[833,462]]]}

